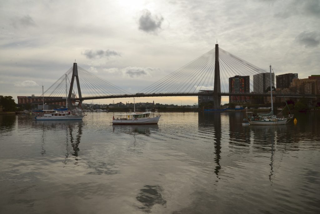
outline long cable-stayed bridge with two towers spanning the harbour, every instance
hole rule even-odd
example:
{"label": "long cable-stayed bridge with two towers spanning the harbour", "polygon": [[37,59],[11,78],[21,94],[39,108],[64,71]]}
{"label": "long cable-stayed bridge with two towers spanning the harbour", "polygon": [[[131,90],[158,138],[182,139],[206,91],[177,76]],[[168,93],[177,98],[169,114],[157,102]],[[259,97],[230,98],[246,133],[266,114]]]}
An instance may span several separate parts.
{"label": "long cable-stayed bridge with two towers spanning the harbour", "polygon": [[[139,93],[132,94],[74,63],[73,67],[44,92],[44,96],[66,97],[68,94],[68,106],[72,106],[70,105],[72,101],[78,101],[81,104],[83,100],[92,99],[201,95],[213,96],[214,108],[219,109],[221,96],[270,96],[270,92],[261,92],[258,90],[261,86],[254,84],[253,79],[254,76],[257,76],[256,74],[268,74],[268,78],[270,77],[269,72],[223,50],[216,44],[212,50],[144,88]],[[249,92],[239,92],[234,90],[234,87],[229,87],[229,78],[234,76],[247,76],[250,79]],[[275,75],[271,76],[272,82],[275,82]],[[316,98],[316,95],[301,94],[290,90],[286,93],[274,92],[273,95]],[[65,99],[46,102],[64,101]]]}

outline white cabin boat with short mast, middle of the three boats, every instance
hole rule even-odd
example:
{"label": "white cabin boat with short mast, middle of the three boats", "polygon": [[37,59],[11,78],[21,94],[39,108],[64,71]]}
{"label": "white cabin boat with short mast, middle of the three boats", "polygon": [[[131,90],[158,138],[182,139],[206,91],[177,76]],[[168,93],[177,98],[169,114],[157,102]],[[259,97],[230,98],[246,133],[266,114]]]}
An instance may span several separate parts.
{"label": "white cabin boat with short mast, middle of the three boats", "polygon": [[151,117],[151,112],[148,110],[145,112],[135,112],[134,101],[133,106],[134,112],[128,114],[116,114],[116,117],[113,116],[112,124],[158,124],[161,115]]}

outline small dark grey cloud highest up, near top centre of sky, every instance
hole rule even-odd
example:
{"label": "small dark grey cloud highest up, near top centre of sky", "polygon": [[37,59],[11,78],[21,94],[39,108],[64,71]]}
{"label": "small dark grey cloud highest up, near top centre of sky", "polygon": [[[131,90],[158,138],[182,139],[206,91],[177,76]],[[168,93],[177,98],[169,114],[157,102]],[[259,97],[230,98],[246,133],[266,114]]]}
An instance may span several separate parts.
{"label": "small dark grey cloud highest up, near top centre of sky", "polygon": [[161,24],[164,18],[160,16],[152,16],[151,12],[148,10],[143,10],[139,18],[139,30],[143,30],[148,33],[155,33],[157,30],[161,29]]}

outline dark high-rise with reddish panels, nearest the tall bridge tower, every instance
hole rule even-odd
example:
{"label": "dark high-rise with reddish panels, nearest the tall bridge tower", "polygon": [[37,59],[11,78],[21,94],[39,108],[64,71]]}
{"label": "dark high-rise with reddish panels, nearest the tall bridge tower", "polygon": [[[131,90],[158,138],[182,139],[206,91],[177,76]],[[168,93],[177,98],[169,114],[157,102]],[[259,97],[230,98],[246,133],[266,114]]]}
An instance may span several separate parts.
{"label": "dark high-rise with reddish panels, nearest the tall bridge tower", "polygon": [[[250,93],[250,76],[234,76],[229,78],[229,93]],[[229,96],[229,103],[249,102],[250,96]]]}

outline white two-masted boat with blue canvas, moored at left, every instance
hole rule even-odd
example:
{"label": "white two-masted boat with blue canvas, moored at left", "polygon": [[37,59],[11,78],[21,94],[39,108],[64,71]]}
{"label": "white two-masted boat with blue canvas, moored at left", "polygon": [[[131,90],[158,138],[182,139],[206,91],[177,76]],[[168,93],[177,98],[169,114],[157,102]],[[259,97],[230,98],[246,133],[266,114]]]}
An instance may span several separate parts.
{"label": "white two-masted boat with blue canvas, moored at left", "polygon": [[[68,109],[68,94],[67,94],[67,74],[66,74],[66,104]],[[82,120],[85,116],[83,111],[58,111],[58,110],[44,110],[44,93],[42,86],[42,115],[37,115],[35,117],[36,120]],[[78,109],[76,109],[78,110]]]}

